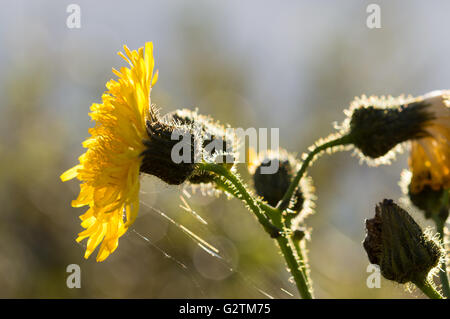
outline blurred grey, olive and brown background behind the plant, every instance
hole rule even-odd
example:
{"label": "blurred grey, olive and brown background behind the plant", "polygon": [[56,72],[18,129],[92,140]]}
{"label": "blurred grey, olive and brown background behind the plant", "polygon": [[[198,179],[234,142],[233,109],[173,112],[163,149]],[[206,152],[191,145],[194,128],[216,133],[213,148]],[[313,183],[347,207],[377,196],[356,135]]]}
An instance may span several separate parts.
{"label": "blurred grey, olive and brown background behind the plant", "polygon": [[[449,88],[448,1],[81,1],[81,28],[66,26],[72,1],[3,1],[0,11],[0,297],[295,298],[275,243],[237,200],[186,197],[143,177],[133,230],[105,262],[85,260],[72,208],[77,163],[116,55],[155,45],[160,72],[152,101],[166,113],[198,107],[232,127],[280,128],[302,153],[333,131],[356,95],[419,95]],[[309,174],[318,196],[310,263],[318,298],[410,298],[381,281],[369,289],[364,219],[397,183],[391,166],[359,164],[351,152],[323,156]],[[244,172],[244,167],[240,167]],[[244,177],[245,173],[243,173]],[[181,208],[183,195],[207,225]],[[177,225],[219,249],[208,254]],[[423,226],[420,216],[413,217]],[[81,288],[66,286],[69,264]]]}

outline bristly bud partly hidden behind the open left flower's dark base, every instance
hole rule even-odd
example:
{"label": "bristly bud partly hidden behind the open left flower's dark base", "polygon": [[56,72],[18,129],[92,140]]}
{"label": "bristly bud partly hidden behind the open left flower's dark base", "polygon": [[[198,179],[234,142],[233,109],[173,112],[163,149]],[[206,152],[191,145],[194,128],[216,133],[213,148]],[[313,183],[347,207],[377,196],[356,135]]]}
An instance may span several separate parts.
{"label": "bristly bud partly hidden behind the open left flower's dark base", "polygon": [[[180,109],[165,115],[165,120],[175,126],[185,126],[196,132],[201,138],[202,162],[217,163],[228,170],[235,170],[235,162],[238,150],[238,139],[232,130],[226,128],[210,116],[198,114],[189,109]],[[214,175],[210,172],[194,170],[187,181],[192,185],[214,185]],[[195,191],[195,188],[193,190]],[[203,192],[203,191],[202,191]]]}

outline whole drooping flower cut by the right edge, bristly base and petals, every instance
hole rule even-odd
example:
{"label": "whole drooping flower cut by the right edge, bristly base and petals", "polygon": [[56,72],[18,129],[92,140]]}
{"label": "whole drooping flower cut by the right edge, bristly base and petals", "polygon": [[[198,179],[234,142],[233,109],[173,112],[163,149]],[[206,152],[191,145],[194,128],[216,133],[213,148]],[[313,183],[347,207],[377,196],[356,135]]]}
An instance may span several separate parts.
{"label": "whole drooping flower cut by the right edge, bristly base and petals", "polygon": [[361,157],[370,164],[388,163],[412,141],[410,166],[413,188],[450,185],[450,126],[448,91],[419,97],[362,96],[356,98],[341,134],[348,135]]}

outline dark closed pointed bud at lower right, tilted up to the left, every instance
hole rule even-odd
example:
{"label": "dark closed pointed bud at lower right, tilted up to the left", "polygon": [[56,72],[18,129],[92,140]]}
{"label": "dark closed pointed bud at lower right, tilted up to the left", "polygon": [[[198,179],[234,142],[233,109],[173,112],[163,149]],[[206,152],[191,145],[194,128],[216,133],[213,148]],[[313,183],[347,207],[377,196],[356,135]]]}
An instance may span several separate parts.
{"label": "dark closed pointed bud at lower right, tilted up to the left", "polygon": [[381,274],[400,284],[424,282],[435,275],[444,257],[443,248],[429,232],[392,200],[376,206],[375,217],[366,220],[363,246]]}

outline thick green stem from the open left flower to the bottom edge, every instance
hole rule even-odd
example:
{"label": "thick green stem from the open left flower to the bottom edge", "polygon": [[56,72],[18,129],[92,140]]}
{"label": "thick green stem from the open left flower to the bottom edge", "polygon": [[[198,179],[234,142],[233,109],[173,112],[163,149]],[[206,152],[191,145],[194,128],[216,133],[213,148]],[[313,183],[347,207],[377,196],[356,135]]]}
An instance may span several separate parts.
{"label": "thick green stem from the open left flower to the bottom edge", "polygon": [[[280,234],[280,228],[282,228],[282,222],[281,217],[275,218],[276,213],[279,211],[275,208],[268,209],[269,206],[263,204],[267,208],[268,215],[272,215],[274,217],[274,222],[276,225],[272,224],[270,220],[267,219],[267,217],[262,213],[260,209],[261,202],[256,202],[253,197],[250,195],[250,193],[247,191],[245,186],[242,184],[240,179],[235,176],[233,173],[228,171],[225,167],[212,164],[212,163],[201,163],[198,164],[199,168],[205,171],[213,172],[219,177],[222,177],[225,179],[216,179],[216,183],[223,188],[225,191],[230,193],[231,195],[242,199],[246,202],[248,207],[251,209],[251,211],[256,215],[258,218],[258,221],[262,224],[264,229],[269,233],[269,235],[272,238],[275,238],[278,246],[280,247],[281,253],[286,261],[286,264],[289,268],[290,273],[294,277],[294,281],[297,285],[297,289],[300,293],[300,296],[303,299],[312,299],[312,295],[309,291],[309,285],[306,280],[306,277],[304,276],[303,272],[301,271],[301,267],[297,263],[297,259],[295,258],[295,255],[292,250],[292,245],[289,243],[289,240],[285,236],[281,236]],[[229,181],[231,185],[227,183]],[[281,216],[281,214],[278,214]],[[278,228],[278,227],[280,228]]]}

